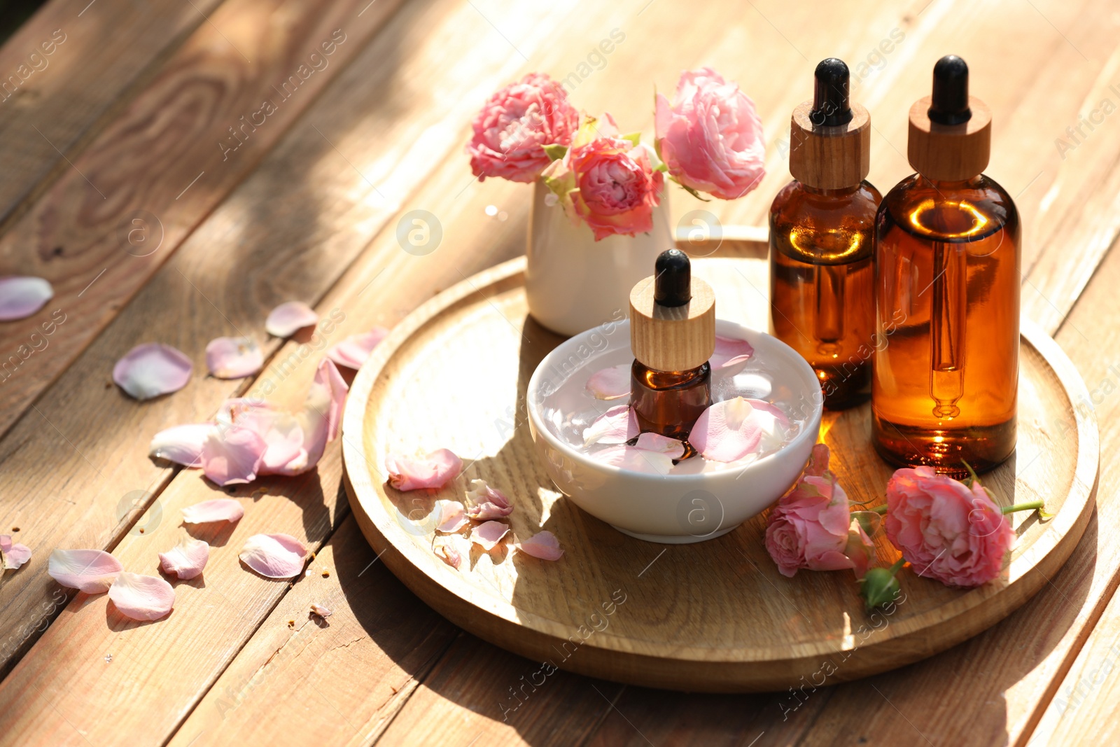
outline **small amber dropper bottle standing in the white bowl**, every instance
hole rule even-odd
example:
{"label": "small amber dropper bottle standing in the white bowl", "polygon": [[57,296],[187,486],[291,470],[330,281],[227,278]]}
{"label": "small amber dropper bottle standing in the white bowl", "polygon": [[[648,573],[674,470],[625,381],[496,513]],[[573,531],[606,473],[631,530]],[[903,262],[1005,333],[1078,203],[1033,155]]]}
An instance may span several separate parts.
{"label": "small amber dropper bottle standing in the white bowl", "polygon": [[[653,276],[631,290],[631,405],[643,432],[684,440],[711,404],[716,296],[692,277],[688,255],[669,249]],[[692,456],[689,448],[685,457]]]}

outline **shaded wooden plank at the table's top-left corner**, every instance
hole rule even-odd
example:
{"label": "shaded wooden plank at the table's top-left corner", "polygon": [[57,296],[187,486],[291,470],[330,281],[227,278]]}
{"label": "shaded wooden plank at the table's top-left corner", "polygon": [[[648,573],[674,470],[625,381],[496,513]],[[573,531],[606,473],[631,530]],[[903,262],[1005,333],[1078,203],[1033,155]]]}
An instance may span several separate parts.
{"label": "shaded wooden plank at the table's top-left corner", "polygon": [[0,47],[0,225],[222,1],[50,0]]}

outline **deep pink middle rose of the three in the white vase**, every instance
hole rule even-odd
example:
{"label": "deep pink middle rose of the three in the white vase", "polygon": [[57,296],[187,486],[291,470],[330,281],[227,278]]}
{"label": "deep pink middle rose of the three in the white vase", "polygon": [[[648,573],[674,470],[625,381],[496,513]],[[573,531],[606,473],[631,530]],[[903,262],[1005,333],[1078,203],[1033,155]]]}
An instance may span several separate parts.
{"label": "deep pink middle rose of the three in the white vase", "polygon": [[595,241],[653,231],[653,208],[664,178],[654,171],[647,147],[618,137],[614,120],[588,120],[564,157],[544,171],[544,183],[564,211],[582,218]]}

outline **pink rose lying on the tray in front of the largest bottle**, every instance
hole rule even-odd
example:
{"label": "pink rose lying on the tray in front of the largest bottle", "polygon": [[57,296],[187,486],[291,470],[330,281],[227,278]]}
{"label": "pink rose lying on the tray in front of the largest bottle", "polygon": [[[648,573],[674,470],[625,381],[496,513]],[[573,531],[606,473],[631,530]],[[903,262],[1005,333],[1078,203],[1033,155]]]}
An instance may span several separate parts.
{"label": "pink rose lying on the tray in front of the largest bottle", "polygon": [[887,538],[918,576],[970,588],[999,576],[1015,530],[980,483],[968,487],[932,467],[899,469],[887,483]]}

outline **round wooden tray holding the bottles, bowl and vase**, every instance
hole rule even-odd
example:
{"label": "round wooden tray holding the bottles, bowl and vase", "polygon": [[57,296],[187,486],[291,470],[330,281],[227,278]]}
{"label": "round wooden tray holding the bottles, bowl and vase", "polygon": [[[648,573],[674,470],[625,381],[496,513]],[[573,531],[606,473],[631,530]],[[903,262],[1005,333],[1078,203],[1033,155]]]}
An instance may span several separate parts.
{"label": "round wooden tray holding the bottles, bowl and vase", "polygon": [[[765,262],[708,259],[694,268],[716,288],[720,317],[765,327],[757,290],[766,287]],[[1055,516],[1009,516],[1019,539],[1002,578],[962,591],[905,569],[903,603],[869,616],[850,571],[781,576],[763,544],[765,513],[697,544],[626,536],[559,494],[536,460],[525,385],[562,338],[526,316],[523,277],[524,260],[506,262],[402,321],[354,381],[343,448],[351,506],[382,561],[456,625],[544,663],[526,663],[526,682],[540,684],[557,666],[648,687],[747,692],[889,670],[1007,616],[1065,562],[1089,521],[1098,431],[1091,409],[1075,407],[1088,401],[1085,387],[1057,345],[1025,324],[1018,449],[984,484],[1004,504],[1045,499]],[[869,447],[869,430],[866,404],[827,413],[821,427],[848,495],[876,505],[893,469]],[[431,494],[388,486],[386,454],[442,447],[465,464],[451,485]],[[515,502],[517,535],[548,529],[563,558],[475,548],[463,571],[437,558],[432,504],[461,501],[477,477]],[[897,559],[881,531],[876,544],[880,564]]]}

